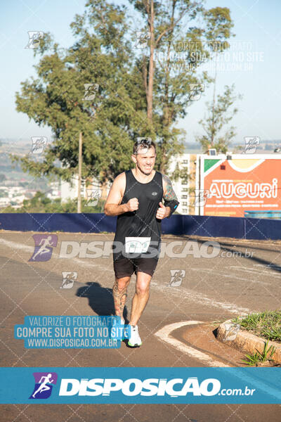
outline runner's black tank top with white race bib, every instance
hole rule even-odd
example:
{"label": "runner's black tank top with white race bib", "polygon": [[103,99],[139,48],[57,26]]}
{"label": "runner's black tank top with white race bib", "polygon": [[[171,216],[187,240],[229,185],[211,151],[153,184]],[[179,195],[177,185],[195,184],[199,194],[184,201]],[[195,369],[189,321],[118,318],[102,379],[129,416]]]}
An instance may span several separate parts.
{"label": "runner's black tank top with white race bib", "polygon": [[155,257],[160,251],[161,220],[156,219],[159,202],[163,198],[162,174],[155,176],[148,183],[141,183],[127,170],[126,188],[121,204],[131,198],[138,199],[138,210],[118,215],[113,259],[124,257]]}

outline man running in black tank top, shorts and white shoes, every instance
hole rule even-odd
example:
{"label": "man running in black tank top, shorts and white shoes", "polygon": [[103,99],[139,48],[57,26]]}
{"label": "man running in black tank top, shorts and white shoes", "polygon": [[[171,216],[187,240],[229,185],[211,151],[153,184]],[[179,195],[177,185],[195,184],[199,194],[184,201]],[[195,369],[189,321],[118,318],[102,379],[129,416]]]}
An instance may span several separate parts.
{"label": "man running in black tank top, shorts and white shoes", "polygon": [[133,272],[136,274],[129,322],[128,344],[132,347],[142,344],[138,320],[148,302],[150,281],[158,262],[161,220],[170,217],[179,204],[169,177],[153,170],[155,158],[154,142],[146,138],[137,141],[131,155],[136,167],[116,177],[105,203],[105,214],[118,216],[113,242],[115,284],[112,292],[115,314],[121,316],[122,324],[127,287]]}

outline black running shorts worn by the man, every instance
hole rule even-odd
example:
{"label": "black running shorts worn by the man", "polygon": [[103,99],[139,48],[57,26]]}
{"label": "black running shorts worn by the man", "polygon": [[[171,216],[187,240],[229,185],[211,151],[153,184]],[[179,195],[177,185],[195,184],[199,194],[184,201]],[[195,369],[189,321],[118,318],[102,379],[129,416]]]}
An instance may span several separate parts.
{"label": "black running shorts worn by the man", "polygon": [[137,272],[144,272],[145,274],[153,275],[158,260],[155,258],[122,258],[121,260],[113,261],[115,270],[115,277],[121,279],[122,277],[129,277]]}

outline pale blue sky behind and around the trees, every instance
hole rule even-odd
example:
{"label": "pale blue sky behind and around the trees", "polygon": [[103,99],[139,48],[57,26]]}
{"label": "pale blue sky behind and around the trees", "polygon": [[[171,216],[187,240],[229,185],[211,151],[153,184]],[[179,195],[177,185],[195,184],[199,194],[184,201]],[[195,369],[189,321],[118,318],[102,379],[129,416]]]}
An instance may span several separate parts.
{"label": "pale blue sky behind and around the trees", "polygon": [[[83,13],[85,3],[85,0],[1,2],[0,138],[50,139],[50,128],[39,127],[15,110],[15,91],[20,90],[20,82],[36,75],[33,65],[38,59],[33,57],[32,49],[25,49],[27,31],[51,32],[60,46],[70,46],[74,41],[70,23],[76,13]],[[218,63],[216,87],[217,93],[222,94],[226,84],[235,84],[235,92],[243,96],[237,101],[239,111],[233,119],[235,141],[244,143],[244,136],[281,139],[280,0],[207,0],[205,6],[230,8],[235,24],[230,51]],[[214,63],[205,66],[214,76]],[[212,94],[212,87],[206,88],[200,101],[192,101],[188,115],[178,121],[177,127],[185,129],[188,143],[203,133],[199,121],[206,114],[206,101],[211,100]]]}

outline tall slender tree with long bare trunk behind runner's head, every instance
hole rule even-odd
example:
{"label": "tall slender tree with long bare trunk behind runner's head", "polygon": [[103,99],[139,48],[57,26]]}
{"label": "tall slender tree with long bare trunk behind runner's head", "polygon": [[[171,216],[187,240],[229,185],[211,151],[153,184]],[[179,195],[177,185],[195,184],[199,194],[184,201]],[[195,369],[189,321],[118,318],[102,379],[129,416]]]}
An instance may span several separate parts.
{"label": "tall slender tree with long bare trunk behind runner's head", "polygon": [[158,141],[157,163],[165,172],[171,158],[183,152],[185,132],[176,123],[192,104],[190,84],[211,82],[206,72],[199,73],[200,65],[211,59],[214,45],[220,53],[228,48],[233,23],[228,8],[207,10],[203,1],[130,1],[141,14],[138,30],[149,34],[149,49],[139,50],[136,67],[145,89],[148,130]]}

